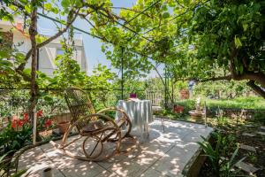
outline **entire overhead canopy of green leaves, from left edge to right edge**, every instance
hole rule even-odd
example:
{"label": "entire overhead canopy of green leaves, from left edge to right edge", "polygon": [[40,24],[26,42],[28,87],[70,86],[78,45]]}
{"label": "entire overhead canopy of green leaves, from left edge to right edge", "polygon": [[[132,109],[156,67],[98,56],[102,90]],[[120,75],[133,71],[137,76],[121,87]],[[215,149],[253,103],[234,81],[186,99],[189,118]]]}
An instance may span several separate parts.
{"label": "entire overhead canopy of green leaves, from left edge to right edge", "polygon": [[[177,80],[246,80],[265,97],[264,1],[261,0],[138,0],[133,7],[114,7],[110,0],[4,0],[0,18],[14,21],[25,16],[32,49],[16,58],[14,72],[35,87],[35,62],[24,72],[36,50],[63,35],[79,17],[103,42],[102,51],[119,67],[123,55],[127,75],[146,73],[155,64],[168,65]],[[42,11],[40,11],[42,10]],[[57,34],[45,38],[37,33],[38,13],[64,16]],[[124,52],[122,53],[122,49]],[[3,60],[3,70],[10,63]]]}

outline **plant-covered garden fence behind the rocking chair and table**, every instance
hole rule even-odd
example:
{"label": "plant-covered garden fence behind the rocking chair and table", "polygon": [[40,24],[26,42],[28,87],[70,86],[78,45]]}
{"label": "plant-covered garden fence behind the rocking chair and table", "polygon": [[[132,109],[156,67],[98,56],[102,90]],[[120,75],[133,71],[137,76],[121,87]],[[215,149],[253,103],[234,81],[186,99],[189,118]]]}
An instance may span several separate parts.
{"label": "plant-covered garden fence behind the rocking chair and table", "polygon": [[[84,89],[95,106],[95,110],[115,106],[121,99],[121,89]],[[163,104],[163,94],[159,91],[134,90],[140,99],[149,99],[152,104]],[[67,113],[68,108],[64,101],[64,89],[40,89],[36,110],[42,110],[45,116],[53,117]],[[124,98],[130,96],[131,90],[124,90]],[[11,117],[12,115],[22,116],[27,112],[29,106],[29,89],[0,89],[0,118]],[[3,120],[3,119],[1,119]],[[3,125],[2,125],[3,126]]]}

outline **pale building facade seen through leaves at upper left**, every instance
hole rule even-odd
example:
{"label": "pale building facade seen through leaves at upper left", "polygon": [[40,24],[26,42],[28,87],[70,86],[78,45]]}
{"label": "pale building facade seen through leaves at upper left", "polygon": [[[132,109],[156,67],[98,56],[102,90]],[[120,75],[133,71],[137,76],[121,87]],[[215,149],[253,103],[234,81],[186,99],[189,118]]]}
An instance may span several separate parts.
{"label": "pale building facade seen through leaves at upper left", "polygon": [[[13,47],[15,47],[19,52],[26,54],[27,51],[31,49],[31,42],[29,36],[23,32],[23,19],[17,18],[15,21],[15,24],[12,25],[10,22],[0,20],[0,35],[4,37],[5,41],[11,41]],[[57,55],[61,55],[63,53],[64,50],[62,50],[60,38],[49,42],[39,50],[37,64],[38,70],[42,73],[46,73],[48,76],[53,76],[53,72],[57,69],[55,58]],[[74,39],[74,51],[72,58],[80,65],[81,71],[87,73],[87,58],[82,38]],[[29,68],[30,66],[31,59],[28,60],[26,67]]]}

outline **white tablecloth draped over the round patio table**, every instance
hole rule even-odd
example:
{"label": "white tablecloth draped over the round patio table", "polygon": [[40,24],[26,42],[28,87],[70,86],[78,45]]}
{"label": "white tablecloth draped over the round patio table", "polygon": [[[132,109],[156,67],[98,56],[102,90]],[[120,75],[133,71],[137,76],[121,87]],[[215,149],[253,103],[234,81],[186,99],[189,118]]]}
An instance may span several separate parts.
{"label": "white tablecloth draped over the round patio table", "polygon": [[[140,127],[140,131],[144,126],[148,126],[149,122],[153,121],[152,104],[150,100],[119,100],[117,108],[125,110],[132,121],[133,127]],[[120,117],[120,112],[117,112],[116,119]]]}

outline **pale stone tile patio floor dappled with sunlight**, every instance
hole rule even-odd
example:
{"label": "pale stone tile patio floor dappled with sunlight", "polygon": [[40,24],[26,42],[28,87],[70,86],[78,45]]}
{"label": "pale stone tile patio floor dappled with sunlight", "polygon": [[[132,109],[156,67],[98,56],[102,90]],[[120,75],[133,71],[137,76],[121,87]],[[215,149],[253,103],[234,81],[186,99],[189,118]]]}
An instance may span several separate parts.
{"label": "pale stone tile patio floor dappled with sunlight", "polygon": [[[27,150],[19,158],[19,169],[29,169],[29,176],[42,176],[42,169],[52,167],[54,176],[183,176],[182,170],[193,157],[201,140],[213,130],[211,127],[184,121],[165,119],[165,132],[160,119],[149,124],[149,135],[133,130],[138,137],[139,148],[128,154],[116,155],[102,162],[87,162],[72,159],[44,144]],[[59,143],[59,141],[57,142]],[[78,150],[82,139],[75,143]]]}

